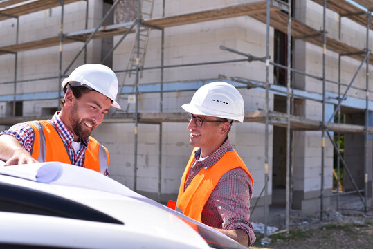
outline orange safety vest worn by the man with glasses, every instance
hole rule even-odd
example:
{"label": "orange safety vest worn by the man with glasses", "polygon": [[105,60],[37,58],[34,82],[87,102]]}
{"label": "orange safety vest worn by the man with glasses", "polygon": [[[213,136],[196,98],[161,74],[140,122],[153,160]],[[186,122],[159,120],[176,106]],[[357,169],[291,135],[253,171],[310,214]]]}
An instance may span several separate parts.
{"label": "orange safety vest worn by the man with glasses", "polygon": [[215,189],[221,176],[231,169],[240,167],[244,169],[246,174],[253,183],[253,178],[244,163],[244,161],[238,156],[235,150],[227,151],[220,160],[211,165],[208,169],[202,168],[199,173],[194,176],[190,185],[184,192],[185,181],[189,175],[190,167],[194,162],[194,151],[199,148],[194,148],[192,156],[190,156],[187,167],[185,168],[183,177],[181,178],[181,184],[179,189],[179,195],[177,197],[177,208],[179,208],[183,214],[189,216],[196,221],[202,222],[202,210],[206,202],[210,198],[212,191]]}

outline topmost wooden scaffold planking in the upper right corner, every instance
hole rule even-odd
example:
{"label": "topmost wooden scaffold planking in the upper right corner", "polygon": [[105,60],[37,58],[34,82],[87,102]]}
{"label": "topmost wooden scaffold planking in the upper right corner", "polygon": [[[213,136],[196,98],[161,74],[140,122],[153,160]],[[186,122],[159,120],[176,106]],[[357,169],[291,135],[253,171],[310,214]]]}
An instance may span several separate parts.
{"label": "topmost wooden scaffold planking in the upper right corner", "polygon": [[[312,0],[321,6],[324,5],[324,0]],[[359,3],[361,6],[364,6],[367,9],[373,10],[373,2],[371,0],[355,0],[356,3]],[[367,26],[367,13],[365,13],[361,8],[354,6],[352,3],[349,3],[345,0],[328,0],[327,8],[337,12],[341,16],[345,16],[356,23],[361,24],[362,26]],[[370,23],[370,29],[373,30],[373,24]]]}

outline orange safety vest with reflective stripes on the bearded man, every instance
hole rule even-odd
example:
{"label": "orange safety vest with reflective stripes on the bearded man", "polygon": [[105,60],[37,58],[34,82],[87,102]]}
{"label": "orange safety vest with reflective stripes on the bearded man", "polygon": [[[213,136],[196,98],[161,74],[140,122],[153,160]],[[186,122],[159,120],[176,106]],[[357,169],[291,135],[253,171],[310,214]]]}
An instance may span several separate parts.
{"label": "orange safety vest with reflective stripes on the bearded man", "polygon": [[[51,122],[42,120],[27,122],[27,124],[33,127],[35,134],[33,149],[31,150],[31,156],[35,160],[39,162],[58,161],[73,164],[68,149]],[[90,136],[84,153],[84,167],[104,174],[108,165],[109,151]]]}

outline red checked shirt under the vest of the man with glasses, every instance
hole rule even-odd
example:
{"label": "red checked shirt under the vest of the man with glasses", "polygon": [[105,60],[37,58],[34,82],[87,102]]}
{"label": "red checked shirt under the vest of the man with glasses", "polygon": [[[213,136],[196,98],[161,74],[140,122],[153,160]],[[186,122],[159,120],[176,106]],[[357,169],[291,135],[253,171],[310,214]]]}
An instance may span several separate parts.
{"label": "red checked shirt under the vest of the man with glasses", "polygon": [[[199,162],[201,149],[198,149],[195,153],[194,163],[190,167],[188,178],[185,181],[185,189],[202,167],[207,169],[217,163],[227,151],[232,150],[233,147],[227,138],[219,149],[202,162]],[[252,196],[253,183],[244,170],[237,167],[226,172],[226,174],[221,176],[203,207],[202,223],[224,230],[242,229],[248,234],[249,245],[252,246],[256,239],[253,225],[248,221]]]}

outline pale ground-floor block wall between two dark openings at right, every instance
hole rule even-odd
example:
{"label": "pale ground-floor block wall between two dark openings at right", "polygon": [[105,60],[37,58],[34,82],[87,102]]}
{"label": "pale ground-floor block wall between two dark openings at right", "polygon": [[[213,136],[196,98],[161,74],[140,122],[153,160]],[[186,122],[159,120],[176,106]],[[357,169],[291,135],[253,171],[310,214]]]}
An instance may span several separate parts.
{"label": "pale ground-floor block wall between two dark openings at right", "polygon": [[[298,103],[298,115],[321,120],[322,105],[311,100]],[[302,108],[300,108],[302,107]],[[302,113],[303,112],[303,113]],[[320,131],[295,131],[293,133],[293,208],[304,215],[319,212],[322,172],[322,133]],[[326,135],[325,135],[326,136]],[[331,193],[333,184],[333,146],[325,137],[324,149],[324,193]],[[311,205],[311,203],[313,203]],[[329,199],[325,199],[325,205]]]}

